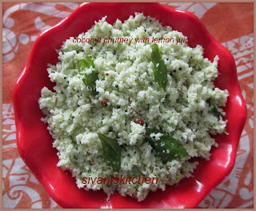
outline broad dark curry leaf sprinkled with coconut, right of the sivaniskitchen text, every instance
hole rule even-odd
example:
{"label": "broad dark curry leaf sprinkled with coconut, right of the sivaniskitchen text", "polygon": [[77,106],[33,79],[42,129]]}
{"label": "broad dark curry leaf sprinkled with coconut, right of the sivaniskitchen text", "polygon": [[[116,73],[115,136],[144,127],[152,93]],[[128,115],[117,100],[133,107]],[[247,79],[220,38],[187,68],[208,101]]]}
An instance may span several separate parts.
{"label": "broad dark curry leaf sprinkled with coconut, right of the sivaniskitchen text", "polygon": [[150,134],[154,133],[163,133],[158,129],[146,129],[146,141],[150,142],[150,145],[154,148],[159,157],[161,157],[163,162],[177,160],[182,157],[186,157],[189,153],[186,152],[186,149],[183,147],[180,141],[177,141],[170,135],[163,133],[162,137],[158,141],[150,137]]}

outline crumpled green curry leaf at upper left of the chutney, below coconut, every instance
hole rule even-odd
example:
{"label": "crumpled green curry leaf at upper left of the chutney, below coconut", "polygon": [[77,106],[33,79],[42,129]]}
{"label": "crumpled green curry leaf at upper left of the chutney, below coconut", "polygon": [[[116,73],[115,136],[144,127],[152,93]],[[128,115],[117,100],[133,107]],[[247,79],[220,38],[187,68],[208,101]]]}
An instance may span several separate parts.
{"label": "crumpled green curry leaf at upper left of the chutney, below coconut", "polygon": [[[87,56],[85,59],[78,60],[78,71],[81,72],[82,70],[86,70],[86,68],[90,68],[94,66],[94,61],[90,56]],[[96,92],[96,80],[98,79],[98,73],[96,73],[94,70],[91,72],[91,74],[85,74],[84,82],[87,86],[90,87],[91,94],[94,96],[97,94]]]}

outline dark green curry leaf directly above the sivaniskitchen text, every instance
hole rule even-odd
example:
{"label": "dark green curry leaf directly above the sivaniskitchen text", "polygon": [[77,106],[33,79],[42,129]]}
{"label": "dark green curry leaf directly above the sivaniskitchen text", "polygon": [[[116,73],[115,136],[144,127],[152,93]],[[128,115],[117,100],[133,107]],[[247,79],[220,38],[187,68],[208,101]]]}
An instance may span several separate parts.
{"label": "dark green curry leaf directly above the sivaniskitchen text", "polygon": [[102,149],[106,161],[112,166],[114,172],[119,172],[121,166],[121,146],[113,138],[106,137],[98,133],[98,138],[102,141]]}

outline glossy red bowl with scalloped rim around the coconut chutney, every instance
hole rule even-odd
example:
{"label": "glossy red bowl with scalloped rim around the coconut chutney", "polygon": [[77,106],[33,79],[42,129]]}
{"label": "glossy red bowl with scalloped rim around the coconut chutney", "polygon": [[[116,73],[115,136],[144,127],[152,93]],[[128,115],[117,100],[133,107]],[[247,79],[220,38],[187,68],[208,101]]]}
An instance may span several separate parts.
{"label": "glossy red bowl with scalloped rim around the coconut chutney", "polygon": [[[167,186],[166,191],[150,193],[142,202],[131,197],[121,197],[118,193],[114,193],[110,201],[106,202],[106,193],[78,189],[70,173],[57,167],[57,150],[52,147],[53,139],[40,120],[42,112],[38,107],[38,98],[42,87],[54,86],[48,78],[46,67],[48,63],[58,62],[55,50],[61,48],[62,42],[89,30],[94,21],[105,15],[107,22],[112,24],[117,18],[126,20],[134,12],[157,18],[163,26],[171,26],[188,38],[193,38],[190,46],[201,45],[205,50],[204,57],[211,61],[218,55],[220,75],[214,84],[230,92],[224,108],[228,119],[226,130],[230,134],[216,136],[219,146],[211,150],[210,161],[200,160],[194,177],[183,179],[178,186]],[[246,121],[246,104],[230,51],[209,34],[194,14],[158,3],[89,3],[79,6],[34,42],[26,66],[14,86],[13,100],[19,153],[50,197],[63,208],[194,208],[233,169],[239,138]]]}

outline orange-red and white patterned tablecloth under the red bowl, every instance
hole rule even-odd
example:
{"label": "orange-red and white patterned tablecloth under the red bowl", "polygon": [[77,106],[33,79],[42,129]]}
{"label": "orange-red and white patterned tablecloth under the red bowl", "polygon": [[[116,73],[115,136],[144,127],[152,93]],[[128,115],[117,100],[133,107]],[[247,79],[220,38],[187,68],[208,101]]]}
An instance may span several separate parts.
{"label": "orange-red and white patterned tablecloth under the red bowl", "polygon": [[[14,82],[34,40],[78,3],[3,3],[3,208],[60,208],[22,161],[16,145]],[[200,208],[253,208],[253,3],[170,3],[198,16],[234,55],[247,119],[234,169],[200,203]]]}

